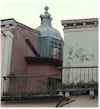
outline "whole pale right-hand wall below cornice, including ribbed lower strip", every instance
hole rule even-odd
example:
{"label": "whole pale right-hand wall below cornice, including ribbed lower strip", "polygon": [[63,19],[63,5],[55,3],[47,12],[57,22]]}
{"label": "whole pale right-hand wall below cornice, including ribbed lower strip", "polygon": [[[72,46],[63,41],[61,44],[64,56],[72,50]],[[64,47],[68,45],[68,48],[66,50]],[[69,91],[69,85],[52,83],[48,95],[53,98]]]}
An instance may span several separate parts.
{"label": "whole pale right-hand wall below cornice, including ribbed lower strip", "polygon": [[[84,50],[84,54],[87,55],[89,60],[80,61],[75,56],[75,54],[81,55],[81,52],[78,53],[80,48]],[[68,55],[70,49],[73,51],[72,55]],[[76,83],[80,80],[85,82],[97,81],[97,69],[95,68],[89,69],[89,71],[86,68],[82,68],[81,74],[80,69],[74,68],[73,71],[71,71],[72,69],[66,69],[66,67],[91,66],[98,66],[98,29],[96,27],[64,29],[63,83]]]}

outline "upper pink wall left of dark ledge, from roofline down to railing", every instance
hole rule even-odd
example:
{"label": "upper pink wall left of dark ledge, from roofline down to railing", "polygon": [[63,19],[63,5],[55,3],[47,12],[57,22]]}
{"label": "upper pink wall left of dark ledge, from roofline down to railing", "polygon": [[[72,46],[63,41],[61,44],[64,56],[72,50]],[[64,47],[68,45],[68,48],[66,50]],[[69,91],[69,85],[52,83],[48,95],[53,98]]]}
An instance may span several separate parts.
{"label": "upper pink wall left of dark ledge, from roofline down to railing", "polygon": [[13,31],[13,50],[12,50],[12,63],[11,63],[11,72],[25,73],[26,62],[25,56],[35,56],[31,51],[28,45],[25,42],[25,39],[29,39],[32,45],[37,49],[37,33],[33,30],[24,27],[21,24]]}

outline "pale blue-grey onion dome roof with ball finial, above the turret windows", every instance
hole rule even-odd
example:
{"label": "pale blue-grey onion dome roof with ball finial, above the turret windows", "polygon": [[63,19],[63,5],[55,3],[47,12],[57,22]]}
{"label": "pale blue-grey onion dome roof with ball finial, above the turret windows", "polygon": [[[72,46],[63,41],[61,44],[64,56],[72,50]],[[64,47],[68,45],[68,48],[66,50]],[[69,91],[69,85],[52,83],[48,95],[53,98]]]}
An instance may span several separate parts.
{"label": "pale blue-grey onion dome roof with ball finial, above the turret windows", "polygon": [[60,32],[52,27],[51,21],[52,17],[48,13],[49,7],[46,6],[44,15],[40,15],[41,18],[41,25],[36,28],[38,31],[40,31],[40,37],[52,37],[58,40],[62,40],[62,37],[60,35]]}

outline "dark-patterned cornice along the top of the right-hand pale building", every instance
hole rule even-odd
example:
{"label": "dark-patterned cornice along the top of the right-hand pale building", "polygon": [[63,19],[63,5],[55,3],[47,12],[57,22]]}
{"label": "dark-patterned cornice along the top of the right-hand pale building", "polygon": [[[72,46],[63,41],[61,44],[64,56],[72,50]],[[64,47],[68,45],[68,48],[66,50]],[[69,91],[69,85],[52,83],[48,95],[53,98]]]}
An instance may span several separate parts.
{"label": "dark-patterned cornice along the top of the right-hand pale building", "polygon": [[98,27],[98,18],[62,20],[62,25],[64,29],[96,28]]}

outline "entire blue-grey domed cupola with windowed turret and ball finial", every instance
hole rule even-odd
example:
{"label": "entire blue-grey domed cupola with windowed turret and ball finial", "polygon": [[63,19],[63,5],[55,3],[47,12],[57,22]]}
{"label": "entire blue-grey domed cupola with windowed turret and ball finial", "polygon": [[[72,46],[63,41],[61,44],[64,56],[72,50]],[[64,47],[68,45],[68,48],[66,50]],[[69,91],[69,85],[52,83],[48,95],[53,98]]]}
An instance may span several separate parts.
{"label": "entire blue-grey domed cupola with windowed turret and ball finial", "polygon": [[52,17],[45,7],[44,15],[40,15],[41,24],[36,28],[39,32],[39,52],[42,57],[62,59],[63,39],[58,30],[52,27]]}

